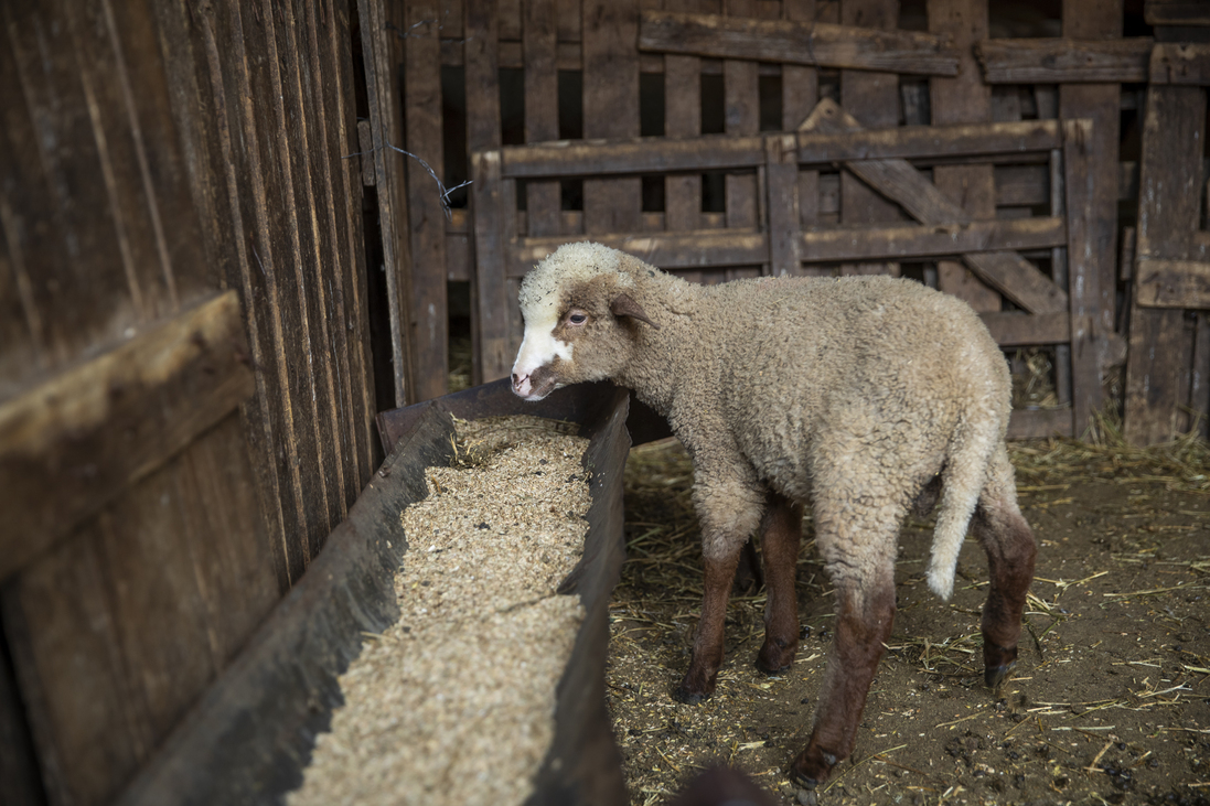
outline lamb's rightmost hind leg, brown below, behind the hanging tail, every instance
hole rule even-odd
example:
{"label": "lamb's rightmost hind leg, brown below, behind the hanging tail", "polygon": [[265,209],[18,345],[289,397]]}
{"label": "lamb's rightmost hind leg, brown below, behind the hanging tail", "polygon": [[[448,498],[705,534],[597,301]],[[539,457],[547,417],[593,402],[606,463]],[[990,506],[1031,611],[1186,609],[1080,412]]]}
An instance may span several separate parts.
{"label": "lamb's rightmost hind leg, brown below, behind the hanging tail", "polygon": [[1013,467],[1003,447],[992,456],[972,529],[987,553],[991,576],[983,611],[984,681],[998,690],[1016,663],[1021,612],[1037,555],[1033,530],[1016,505]]}

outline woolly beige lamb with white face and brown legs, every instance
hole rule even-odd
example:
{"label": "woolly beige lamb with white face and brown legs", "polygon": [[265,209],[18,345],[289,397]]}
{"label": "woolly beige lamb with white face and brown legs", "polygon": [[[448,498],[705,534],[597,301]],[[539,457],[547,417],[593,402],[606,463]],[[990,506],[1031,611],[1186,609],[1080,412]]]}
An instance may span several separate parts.
{"label": "woolly beige lamb with white face and brown legs", "polygon": [[853,750],[914,507],[927,513],[940,499],[927,581],[941,599],[968,525],[986,551],[984,674],[993,690],[1006,681],[1036,547],[1004,444],[1007,362],[969,306],[878,276],[697,286],[597,243],[563,246],[534,267],[520,306],[517,395],[612,379],[663,414],[692,459],[705,577],[676,700],[714,691],[727,595],[757,530],[768,600],[756,666],[772,674],[794,662],[795,564],[812,507],[836,626],[811,737],[790,768],[801,800],[813,802]]}

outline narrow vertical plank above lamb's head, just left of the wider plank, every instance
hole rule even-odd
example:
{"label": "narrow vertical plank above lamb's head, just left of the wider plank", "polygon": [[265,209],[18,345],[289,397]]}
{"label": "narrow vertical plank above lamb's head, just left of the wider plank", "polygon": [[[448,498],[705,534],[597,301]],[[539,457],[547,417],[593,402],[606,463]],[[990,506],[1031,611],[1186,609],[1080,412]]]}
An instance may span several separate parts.
{"label": "narrow vertical plank above lamb's head, just left of the wider plank", "polygon": [[[525,53],[525,142],[559,139],[558,17],[554,0],[523,1]],[[563,217],[559,183],[525,184],[529,235],[558,235]]]}

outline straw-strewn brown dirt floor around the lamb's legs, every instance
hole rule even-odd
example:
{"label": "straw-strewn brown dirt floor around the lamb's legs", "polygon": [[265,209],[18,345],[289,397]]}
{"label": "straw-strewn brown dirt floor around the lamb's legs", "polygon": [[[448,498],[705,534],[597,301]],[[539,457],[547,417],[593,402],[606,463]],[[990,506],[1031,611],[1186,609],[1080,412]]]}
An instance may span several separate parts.
{"label": "straw-strewn brown dirt floor around the lamb's legs", "polygon": [[[943,603],[923,581],[932,524],[909,524],[893,638],[857,749],[820,804],[1210,804],[1205,450],[1013,447],[1038,563],[999,698],[983,685],[981,552],[967,542]],[[809,516],[793,672],[756,670],[764,592],[737,585],[718,692],[684,706],[670,691],[688,664],[702,585],[692,471],[672,442],[634,449],[627,474],[629,560],[611,611],[607,698],[632,802],[664,802],[716,762],[795,802],[784,770],[809,733],[832,624]]]}

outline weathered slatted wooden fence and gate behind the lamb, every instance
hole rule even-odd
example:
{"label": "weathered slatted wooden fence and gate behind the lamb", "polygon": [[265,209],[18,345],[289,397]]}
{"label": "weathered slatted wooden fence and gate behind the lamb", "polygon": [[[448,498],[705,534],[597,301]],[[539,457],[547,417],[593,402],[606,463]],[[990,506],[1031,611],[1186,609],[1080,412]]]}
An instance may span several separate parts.
{"label": "weathered slatted wooden fence and gate behind the lamb", "polygon": [[[969,301],[1010,355],[1048,356],[1054,395],[1018,413],[1015,436],[1091,433],[1095,415],[1123,399],[1152,28],[1180,41],[1200,24],[1187,2],[1125,5],[501,0],[489,13],[477,0],[403,0],[407,148],[438,174],[456,173],[448,184],[473,180],[467,205],[443,211],[432,178],[408,166],[411,248],[425,254],[413,284],[427,289],[411,301],[416,396],[446,388],[443,277],[471,287],[474,378],[490,380],[507,374],[519,341],[520,275],[558,243],[592,237],[703,282],[906,272]],[[1195,73],[1191,58],[1181,69]],[[825,98],[863,127],[900,129],[901,143],[911,127],[1007,132],[995,127],[1019,121],[1055,121],[1062,134],[1049,152],[983,159],[904,145],[920,174],[911,182],[923,177],[946,198],[926,220],[852,160],[808,151],[802,132],[793,144],[770,136],[797,129]],[[1012,229],[1044,215],[1061,219],[1062,237],[998,254],[987,244],[945,254],[921,246],[920,228],[903,229]],[[900,228],[899,253],[817,248],[870,226]],[[1045,299],[1018,293],[1030,287]],[[1020,312],[1028,316],[1012,316]],[[1128,396],[1128,421],[1163,420],[1128,426],[1136,441],[1169,438],[1195,420],[1172,413],[1205,409],[1198,316],[1182,326],[1188,349],[1147,375],[1180,376],[1165,381],[1163,402]],[[1143,410],[1153,405],[1169,414]]]}

